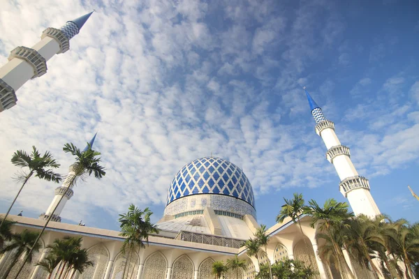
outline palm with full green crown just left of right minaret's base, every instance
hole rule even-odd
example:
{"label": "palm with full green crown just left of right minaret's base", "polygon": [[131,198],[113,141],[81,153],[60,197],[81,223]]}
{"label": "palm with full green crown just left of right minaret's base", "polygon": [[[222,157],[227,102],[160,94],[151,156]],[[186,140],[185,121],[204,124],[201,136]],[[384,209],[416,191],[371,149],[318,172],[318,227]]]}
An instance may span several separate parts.
{"label": "palm with full green crown just left of right minaret's base", "polygon": [[311,227],[314,227],[316,223],[319,223],[320,225],[318,227],[321,231],[328,234],[341,276],[346,278],[346,274],[348,274],[350,278],[354,278],[341,250],[342,246],[336,241],[337,236],[332,235],[339,235],[341,233],[339,226],[342,225],[344,220],[353,216],[353,213],[348,211],[348,204],[346,204],[346,202],[337,202],[335,199],[328,199],[325,201],[322,208],[314,199],[311,199],[309,201],[309,206],[303,207],[303,213],[311,216]]}

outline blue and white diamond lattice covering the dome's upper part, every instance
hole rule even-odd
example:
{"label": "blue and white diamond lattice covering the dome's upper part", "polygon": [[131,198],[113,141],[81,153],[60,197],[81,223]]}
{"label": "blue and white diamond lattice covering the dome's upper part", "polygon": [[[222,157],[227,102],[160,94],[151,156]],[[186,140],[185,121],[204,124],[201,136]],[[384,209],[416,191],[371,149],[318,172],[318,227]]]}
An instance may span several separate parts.
{"label": "blue and white diamond lattice covering the dome's upper part", "polygon": [[237,197],[255,207],[247,176],[239,167],[221,158],[199,158],[182,167],[170,185],[166,205],[180,197],[196,194]]}

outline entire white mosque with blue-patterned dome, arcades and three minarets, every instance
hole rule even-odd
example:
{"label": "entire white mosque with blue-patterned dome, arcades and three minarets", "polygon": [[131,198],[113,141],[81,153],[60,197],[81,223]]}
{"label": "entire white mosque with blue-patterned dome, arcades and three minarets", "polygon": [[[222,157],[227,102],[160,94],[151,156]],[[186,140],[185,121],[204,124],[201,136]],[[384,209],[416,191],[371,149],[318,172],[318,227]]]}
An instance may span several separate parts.
{"label": "entire white mosque with blue-patterned dome, arcades and three minarets", "polygon": [[[34,47],[16,47],[10,53],[8,63],[0,68],[0,112],[17,104],[15,91],[20,86],[46,73],[48,59],[69,49],[70,39],[79,33],[90,15],[69,21],[61,29],[47,28]],[[335,124],[325,119],[321,108],[307,91],[306,94],[316,121],[316,133],[328,149],[325,157],[339,175],[339,190],[348,199],[355,214],[376,216],[380,211],[369,192],[369,181],[360,176],[353,166],[349,148],[342,145],[335,134]],[[255,278],[258,271],[256,258],[249,258],[246,249],[241,247],[259,226],[253,189],[242,169],[228,160],[203,157],[184,165],[168,188],[166,209],[156,224],[159,234],[150,236],[149,246],[139,253],[135,252],[129,259],[120,252],[124,239],[119,232],[61,223],[59,215],[73,194],[73,189],[64,182],[55,190],[50,207],[38,219],[10,216],[17,222],[13,226],[14,232],[24,229],[40,231],[54,206],[64,196],[52,216],[54,222],[48,225],[41,238],[43,248],[33,262],[47,255],[46,247],[54,239],[82,236],[82,245],[88,249],[94,266],[76,274],[78,279],[119,279],[125,264],[128,266],[128,278],[212,279],[212,263],[226,261],[235,255],[247,259],[249,264],[238,274],[228,272],[225,278]],[[267,253],[260,252],[261,262],[267,262],[267,259],[270,262],[284,258],[300,259],[305,263],[316,263],[314,269],[318,271],[318,278],[340,278],[333,266],[330,269],[316,256],[318,247],[323,245],[316,240],[318,228],[309,226],[309,216],[302,216],[301,223],[304,234],[289,218],[270,227],[267,230],[270,242]],[[304,241],[309,243],[308,248]],[[362,269],[358,261],[351,259],[346,251],[344,254],[357,278],[369,278],[368,271]],[[0,270],[10,262],[10,253],[6,252],[0,259]],[[15,268],[8,278],[15,278],[16,273]],[[40,266],[26,264],[18,278],[43,279],[47,278],[47,273]]]}

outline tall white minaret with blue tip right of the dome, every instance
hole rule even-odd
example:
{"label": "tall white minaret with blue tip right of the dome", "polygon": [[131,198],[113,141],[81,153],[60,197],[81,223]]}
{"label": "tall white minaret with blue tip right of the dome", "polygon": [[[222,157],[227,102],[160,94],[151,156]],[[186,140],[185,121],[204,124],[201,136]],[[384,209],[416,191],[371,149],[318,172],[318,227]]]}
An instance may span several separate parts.
{"label": "tall white minaret with blue tip right of the dome", "polygon": [[[304,87],[305,89],[305,87]],[[351,161],[349,148],[342,145],[335,134],[335,123],[325,119],[321,108],[318,107],[309,92],[305,90],[311,109],[311,114],[316,121],[316,133],[321,136],[328,151],[326,158],[336,169],[341,182],[339,190],[348,199],[355,215],[364,214],[371,218],[380,214],[371,193],[369,193],[369,181],[364,176],[360,176]]]}

